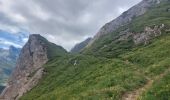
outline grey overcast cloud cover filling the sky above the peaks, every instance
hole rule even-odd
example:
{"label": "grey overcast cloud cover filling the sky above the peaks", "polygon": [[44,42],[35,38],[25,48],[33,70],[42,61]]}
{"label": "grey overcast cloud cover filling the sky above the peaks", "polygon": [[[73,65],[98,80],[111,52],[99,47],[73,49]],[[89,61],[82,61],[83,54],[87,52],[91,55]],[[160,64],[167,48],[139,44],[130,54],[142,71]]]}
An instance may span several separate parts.
{"label": "grey overcast cloud cover filling the sky above the peaks", "polygon": [[0,29],[28,30],[67,50],[141,0],[0,0]]}

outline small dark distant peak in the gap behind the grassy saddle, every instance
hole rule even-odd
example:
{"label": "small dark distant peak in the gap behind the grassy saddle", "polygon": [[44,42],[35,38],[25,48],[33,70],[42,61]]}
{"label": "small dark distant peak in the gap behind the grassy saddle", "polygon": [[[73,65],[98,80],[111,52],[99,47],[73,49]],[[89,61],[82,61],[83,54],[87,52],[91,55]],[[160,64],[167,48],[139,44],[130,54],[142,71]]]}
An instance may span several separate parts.
{"label": "small dark distant peak in the gap behind the grassy saddle", "polygon": [[88,43],[91,41],[92,38],[87,38],[86,40],[84,40],[81,43],[76,44],[72,49],[71,49],[71,53],[79,53],[83,48],[85,48]]}

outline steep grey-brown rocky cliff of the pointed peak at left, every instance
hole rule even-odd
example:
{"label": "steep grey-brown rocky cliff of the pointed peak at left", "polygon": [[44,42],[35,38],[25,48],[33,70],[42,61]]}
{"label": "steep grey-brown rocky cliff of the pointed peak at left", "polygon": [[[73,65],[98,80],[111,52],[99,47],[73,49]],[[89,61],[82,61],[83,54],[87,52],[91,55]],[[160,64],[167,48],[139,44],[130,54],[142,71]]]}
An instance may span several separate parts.
{"label": "steep grey-brown rocky cliff of the pointed peak at left", "polygon": [[[40,35],[31,35],[28,42],[23,47],[8,86],[2,93],[4,100],[17,100],[24,93],[32,89],[42,77],[43,65],[48,61],[49,46],[52,43],[48,42]],[[53,44],[53,46],[56,46]],[[59,46],[54,47],[54,50],[66,51]],[[51,51],[52,52],[52,51]],[[55,55],[55,53],[53,53]]]}

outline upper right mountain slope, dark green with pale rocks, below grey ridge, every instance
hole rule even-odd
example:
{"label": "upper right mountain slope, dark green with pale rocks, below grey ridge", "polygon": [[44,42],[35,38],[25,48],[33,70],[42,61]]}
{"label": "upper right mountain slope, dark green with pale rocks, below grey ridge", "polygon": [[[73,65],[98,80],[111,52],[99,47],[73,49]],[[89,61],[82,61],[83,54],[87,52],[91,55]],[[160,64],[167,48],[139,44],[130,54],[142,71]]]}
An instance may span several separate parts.
{"label": "upper right mountain slope, dark green with pale rocks, below grey ridge", "polygon": [[[159,2],[159,4],[157,4],[158,0],[143,0],[137,6],[134,6],[126,11],[125,13],[130,12],[133,9],[137,9],[136,7],[140,7],[140,5],[150,5],[148,7],[144,6],[144,8],[148,8],[148,10],[146,10],[143,15],[133,17],[133,20],[130,22],[124,25],[122,24],[116,30],[105,35],[103,34],[97,39],[96,36],[100,34],[99,31],[99,33],[92,40],[94,42],[89,43],[87,48],[84,49],[84,53],[113,58],[125,51],[131,50],[136,45],[147,44],[153,38],[160,36],[162,33],[161,31],[167,31],[169,27],[169,5],[165,5],[163,3],[169,3],[169,1],[159,1],[162,3]],[[125,13],[123,13],[123,15]],[[118,17],[118,19],[120,17]],[[110,23],[114,23],[118,19],[115,19]],[[107,25],[104,27],[106,26]]]}

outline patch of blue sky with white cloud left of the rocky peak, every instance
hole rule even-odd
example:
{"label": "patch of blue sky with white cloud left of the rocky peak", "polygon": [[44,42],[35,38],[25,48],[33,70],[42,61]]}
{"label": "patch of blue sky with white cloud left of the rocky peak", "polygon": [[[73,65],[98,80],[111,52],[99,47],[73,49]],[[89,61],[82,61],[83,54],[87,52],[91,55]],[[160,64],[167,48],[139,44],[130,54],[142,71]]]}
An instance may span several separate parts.
{"label": "patch of blue sky with white cloud left of the rocky peak", "polygon": [[9,46],[13,45],[17,48],[22,46],[28,40],[28,32],[10,33],[0,30],[0,48],[8,49]]}

